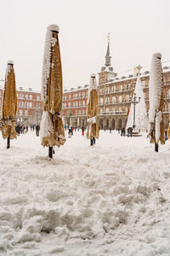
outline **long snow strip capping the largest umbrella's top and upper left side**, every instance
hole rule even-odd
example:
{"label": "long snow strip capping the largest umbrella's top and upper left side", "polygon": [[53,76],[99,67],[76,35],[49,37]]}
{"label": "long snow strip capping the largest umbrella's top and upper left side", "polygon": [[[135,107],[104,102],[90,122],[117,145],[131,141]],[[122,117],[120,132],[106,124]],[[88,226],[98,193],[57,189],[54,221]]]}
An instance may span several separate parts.
{"label": "long snow strip capping the largest umbrella's top and upper left side", "polygon": [[45,40],[45,48],[43,54],[43,62],[42,62],[42,102],[43,105],[48,101],[47,96],[47,85],[48,85],[48,77],[50,73],[50,67],[53,65],[51,63],[51,49],[56,44],[56,39],[53,38],[52,32],[59,32],[59,26],[50,25],[48,26]]}

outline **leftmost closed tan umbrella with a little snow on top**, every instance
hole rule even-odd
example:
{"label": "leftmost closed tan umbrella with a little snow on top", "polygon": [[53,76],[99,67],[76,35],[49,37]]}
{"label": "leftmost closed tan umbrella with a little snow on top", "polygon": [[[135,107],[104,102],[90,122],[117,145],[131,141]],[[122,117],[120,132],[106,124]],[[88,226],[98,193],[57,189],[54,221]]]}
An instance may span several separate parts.
{"label": "leftmost closed tan umbrella with a little snow on top", "polygon": [[17,112],[17,93],[14,76],[14,62],[8,61],[3,91],[3,138],[7,140],[7,148],[10,147],[10,139],[16,138],[15,118]]}

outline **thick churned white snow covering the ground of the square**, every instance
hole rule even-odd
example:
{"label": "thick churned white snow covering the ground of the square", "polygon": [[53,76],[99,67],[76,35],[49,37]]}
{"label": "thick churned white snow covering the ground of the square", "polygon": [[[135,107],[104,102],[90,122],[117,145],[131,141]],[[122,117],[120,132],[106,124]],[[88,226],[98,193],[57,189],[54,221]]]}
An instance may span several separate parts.
{"label": "thick churned white snow covering the ground of the square", "polygon": [[170,143],[66,137],[53,160],[33,131],[0,137],[0,255],[169,256]]}

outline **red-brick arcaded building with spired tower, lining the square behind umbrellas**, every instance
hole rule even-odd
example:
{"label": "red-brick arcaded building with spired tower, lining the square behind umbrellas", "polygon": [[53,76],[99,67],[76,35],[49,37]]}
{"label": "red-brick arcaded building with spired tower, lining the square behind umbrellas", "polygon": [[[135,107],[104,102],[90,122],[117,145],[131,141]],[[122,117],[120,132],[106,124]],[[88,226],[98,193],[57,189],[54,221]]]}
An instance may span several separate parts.
{"label": "red-brick arcaded building with spired tower, lining the square behind umbrellas", "polygon": [[[164,116],[166,128],[169,123],[170,109],[170,62],[162,63],[164,79]],[[105,55],[105,66],[99,72],[99,128],[121,129],[126,126],[128,112],[133,100],[133,91],[137,81],[137,72],[143,84],[146,111],[149,112],[149,79],[150,71],[138,67],[132,72],[117,75],[111,67],[110,42]],[[18,110],[17,120],[27,124],[37,124],[41,121],[42,102],[40,92],[31,88],[17,90]],[[62,116],[64,123],[75,127],[87,125],[88,84],[64,90]],[[0,87],[0,114],[2,113],[3,89]]]}

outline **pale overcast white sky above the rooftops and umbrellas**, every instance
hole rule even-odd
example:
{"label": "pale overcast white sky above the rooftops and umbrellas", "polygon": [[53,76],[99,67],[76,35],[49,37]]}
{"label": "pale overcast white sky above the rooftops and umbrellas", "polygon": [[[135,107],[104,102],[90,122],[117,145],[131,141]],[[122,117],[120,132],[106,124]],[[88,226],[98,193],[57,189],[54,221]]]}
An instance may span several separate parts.
{"label": "pale overcast white sky above the rooftops and umbrellas", "polygon": [[0,79],[14,61],[17,86],[41,90],[47,26],[59,25],[64,88],[88,84],[105,64],[111,32],[116,72],[170,60],[170,0],[0,0]]}

